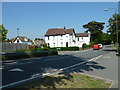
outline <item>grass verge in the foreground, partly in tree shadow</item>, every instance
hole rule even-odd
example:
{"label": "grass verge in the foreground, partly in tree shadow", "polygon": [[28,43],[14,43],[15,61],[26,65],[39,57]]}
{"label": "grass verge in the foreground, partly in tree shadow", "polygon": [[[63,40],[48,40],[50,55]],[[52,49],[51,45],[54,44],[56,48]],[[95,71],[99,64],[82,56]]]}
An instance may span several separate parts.
{"label": "grass verge in the foreground, partly in tree shadow", "polygon": [[68,75],[47,76],[42,79],[34,80],[17,86],[35,90],[40,88],[109,88],[111,81],[93,78],[83,74],[72,73]]}

